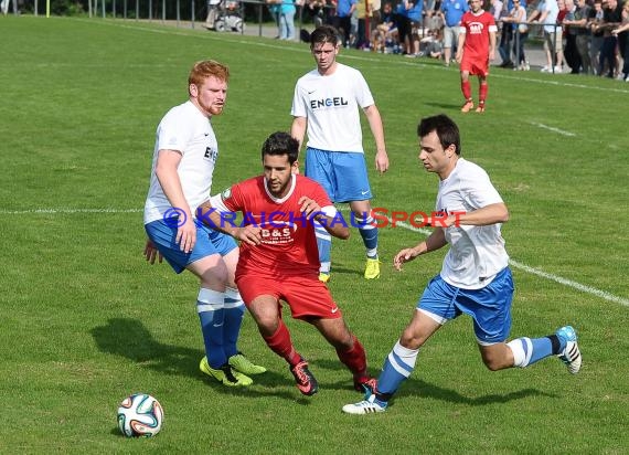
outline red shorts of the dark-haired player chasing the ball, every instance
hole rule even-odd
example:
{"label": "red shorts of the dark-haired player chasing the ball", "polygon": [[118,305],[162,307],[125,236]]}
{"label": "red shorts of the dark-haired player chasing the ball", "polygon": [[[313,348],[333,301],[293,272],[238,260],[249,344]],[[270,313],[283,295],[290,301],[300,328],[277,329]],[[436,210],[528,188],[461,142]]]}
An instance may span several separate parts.
{"label": "red shorts of the dark-haired player chasing the ball", "polygon": [[[317,275],[268,277],[244,274],[236,277],[236,285],[247,307],[256,297],[269,295],[286,301],[295,319],[337,319],[342,316],[330,290]],[[281,308],[281,303],[279,305]]]}

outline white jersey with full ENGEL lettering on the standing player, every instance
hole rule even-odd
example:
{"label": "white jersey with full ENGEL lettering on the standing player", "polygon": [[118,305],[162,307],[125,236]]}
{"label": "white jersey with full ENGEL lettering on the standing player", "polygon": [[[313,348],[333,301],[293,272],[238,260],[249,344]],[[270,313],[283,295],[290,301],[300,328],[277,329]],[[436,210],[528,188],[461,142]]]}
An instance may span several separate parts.
{"label": "white jersey with full ENGEL lettering on the standing player", "polygon": [[361,72],[337,63],[331,75],[313,70],[297,81],[290,114],[308,118],[308,147],[362,154],[359,107],[373,104]]}

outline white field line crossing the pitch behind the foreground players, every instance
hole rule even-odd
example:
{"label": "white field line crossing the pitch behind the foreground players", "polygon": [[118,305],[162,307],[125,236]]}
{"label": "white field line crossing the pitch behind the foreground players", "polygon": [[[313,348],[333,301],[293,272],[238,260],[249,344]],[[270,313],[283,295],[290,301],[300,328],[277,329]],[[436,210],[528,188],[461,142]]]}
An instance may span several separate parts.
{"label": "white field line crossing the pitch behind the foreground players", "polygon": [[[342,211],[347,211],[348,209],[341,209]],[[2,210],[0,209],[0,215],[29,215],[29,214],[76,214],[76,213],[141,213],[143,212],[142,209],[31,209],[31,210]],[[388,222],[393,222],[393,220],[388,219]],[[409,231],[419,232],[424,235],[430,235],[433,231],[425,229],[425,228],[415,228],[411,224],[397,221],[396,225],[407,229]],[[603,298],[604,300],[614,301],[616,304],[620,304],[623,306],[629,307],[629,299],[616,296],[610,294],[606,290],[597,289],[596,287],[586,286],[580,283],[574,282],[568,278],[564,278],[558,275],[553,275],[547,272],[541,271],[535,267],[531,267],[530,265],[522,264],[518,261],[509,260],[509,264],[513,268],[518,268],[520,271],[530,273],[531,275],[539,276],[541,278],[548,279],[551,282],[555,282],[562,284],[567,287],[572,287],[573,289],[579,290],[585,294],[590,294],[596,297]]]}

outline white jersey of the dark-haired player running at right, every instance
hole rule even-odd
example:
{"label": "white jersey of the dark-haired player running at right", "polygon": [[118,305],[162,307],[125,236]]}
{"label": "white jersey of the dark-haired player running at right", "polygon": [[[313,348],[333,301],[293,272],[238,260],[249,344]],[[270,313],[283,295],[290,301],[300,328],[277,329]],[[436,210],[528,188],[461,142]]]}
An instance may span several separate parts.
{"label": "white jersey of the dark-haired player running at right", "polygon": [[[439,182],[437,212],[471,212],[503,202],[487,172],[459,158],[455,170]],[[460,225],[445,230],[450,250],[444,260],[441,277],[452,286],[479,289],[509,265],[501,223],[487,226]]]}

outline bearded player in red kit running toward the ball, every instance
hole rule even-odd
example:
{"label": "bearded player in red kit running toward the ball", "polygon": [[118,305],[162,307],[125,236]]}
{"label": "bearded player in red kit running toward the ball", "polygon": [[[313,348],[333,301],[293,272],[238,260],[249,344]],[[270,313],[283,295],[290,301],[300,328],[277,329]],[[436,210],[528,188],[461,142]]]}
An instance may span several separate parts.
{"label": "bearded player in red kit running toward the ball", "polygon": [[[350,231],[323,188],[298,174],[298,154],[297,139],[274,133],[262,149],[264,174],[212,197],[199,208],[198,219],[241,241],[236,284],[267,346],[289,363],[300,392],[312,395],[318,384],[281,320],[281,301],[335,348],[354,388],[363,391],[373,381],[366,374],[366,355],[319,281],[313,221],[338,239],[348,239]],[[243,213],[238,225],[235,212]]]}

